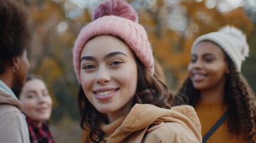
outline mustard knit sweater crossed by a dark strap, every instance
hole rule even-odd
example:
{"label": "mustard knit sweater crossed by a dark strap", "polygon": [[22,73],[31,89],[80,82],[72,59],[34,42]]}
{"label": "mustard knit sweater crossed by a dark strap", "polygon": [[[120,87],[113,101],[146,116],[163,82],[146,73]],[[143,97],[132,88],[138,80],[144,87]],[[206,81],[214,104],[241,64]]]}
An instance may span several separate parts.
{"label": "mustard knit sweater crossed by a dark strap", "polygon": [[[198,114],[199,120],[202,125],[202,136],[215,125],[218,119],[226,112],[226,108],[223,107],[222,102],[202,102],[199,101],[195,107],[196,113]],[[243,138],[230,135],[227,128],[226,121],[211,135],[207,143],[242,143],[245,142]]]}

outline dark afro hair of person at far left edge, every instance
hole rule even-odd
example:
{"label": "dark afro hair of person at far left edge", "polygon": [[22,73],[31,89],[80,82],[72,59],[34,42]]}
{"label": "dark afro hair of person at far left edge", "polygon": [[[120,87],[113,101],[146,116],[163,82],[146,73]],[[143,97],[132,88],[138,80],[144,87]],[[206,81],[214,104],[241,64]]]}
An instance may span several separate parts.
{"label": "dark afro hair of person at far left edge", "polygon": [[30,40],[28,13],[14,0],[0,1],[0,74],[11,58],[22,55]]}

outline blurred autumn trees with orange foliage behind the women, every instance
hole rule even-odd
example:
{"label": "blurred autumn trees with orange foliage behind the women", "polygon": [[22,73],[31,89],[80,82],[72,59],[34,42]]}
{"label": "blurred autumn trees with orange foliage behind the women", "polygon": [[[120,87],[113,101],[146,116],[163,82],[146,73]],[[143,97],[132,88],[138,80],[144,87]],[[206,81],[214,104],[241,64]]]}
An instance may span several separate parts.
{"label": "blurred autumn trees with orange foliage behind the women", "polygon": [[[76,36],[102,0],[20,0],[30,11],[30,73],[42,76],[54,101],[51,129],[57,142],[81,142],[76,107],[78,81],[72,64]],[[187,76],[190,46],[198,36],[227,24],[245,32],[250,55],[242,74],[256,91],[255,0],[127,0],[149,34],[168,87],[176,91]]]}

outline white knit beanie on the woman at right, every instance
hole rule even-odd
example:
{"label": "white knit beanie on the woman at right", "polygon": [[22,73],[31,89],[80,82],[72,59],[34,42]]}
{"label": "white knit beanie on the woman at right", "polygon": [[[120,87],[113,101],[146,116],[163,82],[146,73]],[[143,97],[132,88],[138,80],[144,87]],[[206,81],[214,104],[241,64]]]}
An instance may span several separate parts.
{"label": "white knit beanie on the woman at right", "polygon": [[246,36],[243,32],[232,26],[225,26],[217,32],[211,32],[199,36],[192,45],[192,52],[195,46],[202,41],[211,41],[217,43],[221,49],[229,56],[235,63],[236,70],[241,71],[242,61],[249,55],[249,46],[246,42]]}

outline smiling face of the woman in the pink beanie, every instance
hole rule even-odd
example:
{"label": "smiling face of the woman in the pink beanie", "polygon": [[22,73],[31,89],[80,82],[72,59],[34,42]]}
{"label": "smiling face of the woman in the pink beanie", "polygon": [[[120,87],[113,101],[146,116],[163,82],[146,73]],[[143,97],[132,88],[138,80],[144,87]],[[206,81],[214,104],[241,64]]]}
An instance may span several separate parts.
{"label": "smiling face of the woman in the pink beanie", "polygon": [[131,48],[121,39],[101,35],[88,41],[81,52],[80,73],[84,93],[98,111],[116,118],[130,110],[138,68]]}

